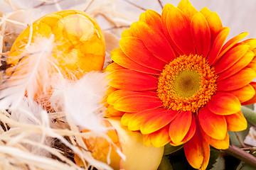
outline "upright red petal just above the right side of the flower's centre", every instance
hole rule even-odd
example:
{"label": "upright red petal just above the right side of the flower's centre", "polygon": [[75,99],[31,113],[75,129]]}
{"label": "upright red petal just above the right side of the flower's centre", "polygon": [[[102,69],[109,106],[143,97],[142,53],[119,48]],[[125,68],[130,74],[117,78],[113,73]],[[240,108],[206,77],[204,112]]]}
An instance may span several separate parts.
{"label": "upright red petal just above the right side of the flower's centre", "polygon": [[191,21],[191,34],[196,45],[198,55],[207,58],[210,50],[210,28],[206,18],[201,13],[196,13]]}

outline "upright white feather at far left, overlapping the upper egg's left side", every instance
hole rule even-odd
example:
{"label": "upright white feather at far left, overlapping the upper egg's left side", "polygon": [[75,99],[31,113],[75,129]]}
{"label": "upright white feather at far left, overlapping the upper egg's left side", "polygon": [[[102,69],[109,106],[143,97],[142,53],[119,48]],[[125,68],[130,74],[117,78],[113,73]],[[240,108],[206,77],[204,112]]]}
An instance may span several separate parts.
{"label": "upright white feather at far left, overlapping the upper egg's left side", "polygon": [[[36,38],[22,52],[22,60],[18,62],[13,75],[6,77],[6,81],[1,85],[0,108],[13,110],[23,100],[25,94],[28,100],[33,101],[35,94],[39,91],[46,92],[50,84],[50,69],[53,69],[51,55],[54,36],[49,39]],[[27,56],[28,57],[24,57]]]}

